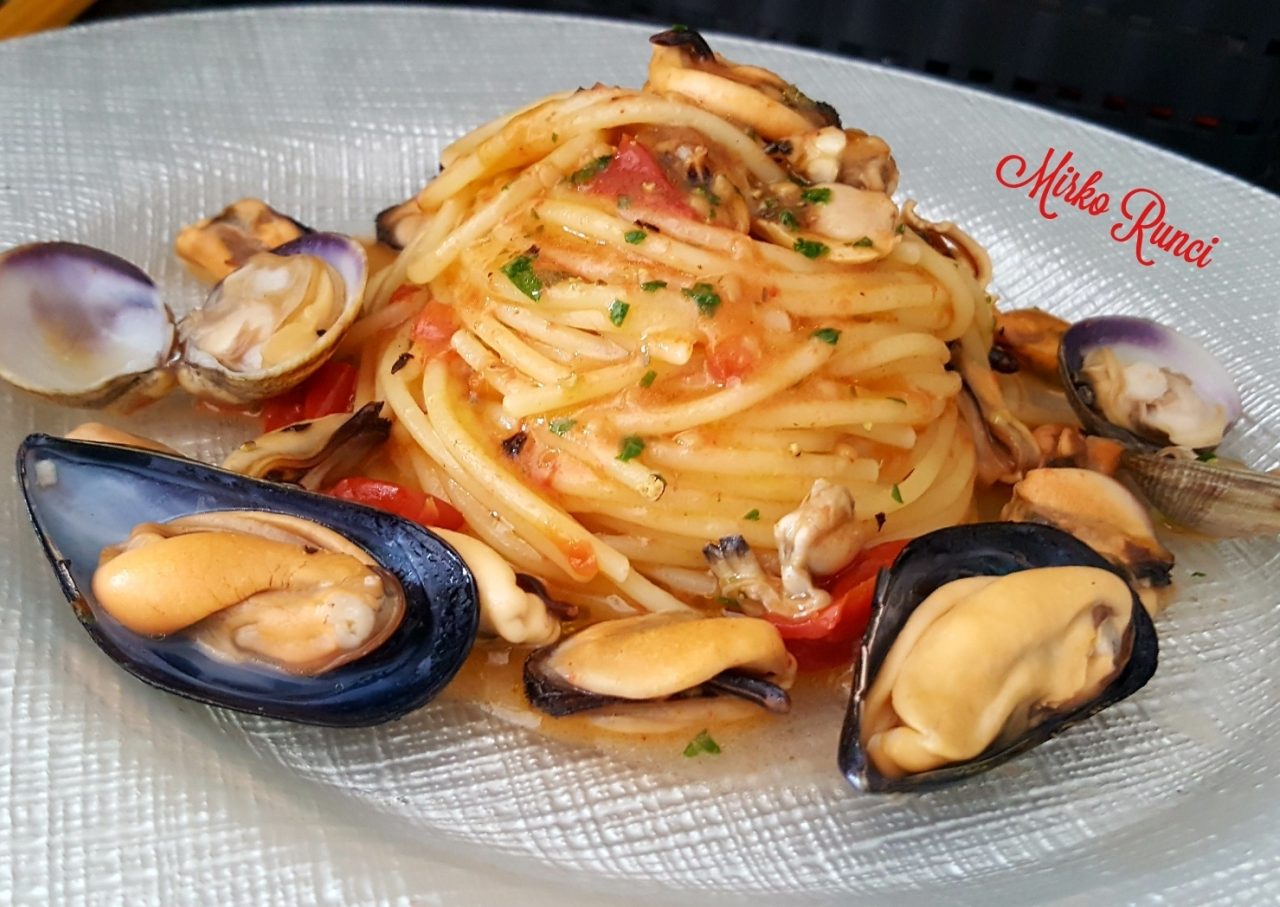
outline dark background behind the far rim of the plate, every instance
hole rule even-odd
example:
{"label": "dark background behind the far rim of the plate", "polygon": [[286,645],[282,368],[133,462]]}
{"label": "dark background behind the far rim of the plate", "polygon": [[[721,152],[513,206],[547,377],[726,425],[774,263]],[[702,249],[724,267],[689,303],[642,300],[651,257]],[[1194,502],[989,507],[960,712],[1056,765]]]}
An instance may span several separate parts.
{"label": "dark background behind the far rim of the plate", "polygon": [[[99,0],[82,22],[280,0]],[[861,58],[1041,104],[1280,191],[1280,0],[525,0]]]}

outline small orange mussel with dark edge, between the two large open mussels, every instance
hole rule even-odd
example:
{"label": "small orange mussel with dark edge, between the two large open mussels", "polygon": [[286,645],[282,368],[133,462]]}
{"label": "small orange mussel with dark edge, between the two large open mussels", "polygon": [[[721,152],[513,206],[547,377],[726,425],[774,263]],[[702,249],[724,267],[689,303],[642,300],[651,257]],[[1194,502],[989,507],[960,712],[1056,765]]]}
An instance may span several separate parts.
{"label": "small orange mussel with dark edge, between the two large open mussels", "polygon": [[525,695],[548,715],[731,696],[783,713],[795,660],[756,618],[641,614],[591,624],[525,663]]}

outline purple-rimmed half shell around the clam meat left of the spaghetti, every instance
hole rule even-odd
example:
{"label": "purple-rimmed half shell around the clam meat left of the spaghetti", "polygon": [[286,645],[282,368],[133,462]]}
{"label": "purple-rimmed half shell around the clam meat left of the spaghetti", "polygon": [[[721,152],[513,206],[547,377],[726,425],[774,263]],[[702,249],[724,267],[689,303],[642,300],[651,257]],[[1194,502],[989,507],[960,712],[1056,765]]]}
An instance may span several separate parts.
{"label": "purple-rimmed half shell around the clam meat left of the spaghetti", "polygon": [[[342,315],[324,336],[316,338],[316,343],[301,356],[273,368],[244,372],[228,368],[211,354],[192,345],[188,342],[189,322],[183,319],[178,322],[178,335],[183,342],[183,362],[178,370],[178,381],[187,393],[224,403],[255,403],[283,394],[323,366],[360,317],[369,275],[369,260],[360,243],[338,233],[308,233],[271,249],[271,255],[312,255],[328,262],[346,287],[347,298]],[[214,287],[205,307],[218,299],[223,285],[219,283]]]}

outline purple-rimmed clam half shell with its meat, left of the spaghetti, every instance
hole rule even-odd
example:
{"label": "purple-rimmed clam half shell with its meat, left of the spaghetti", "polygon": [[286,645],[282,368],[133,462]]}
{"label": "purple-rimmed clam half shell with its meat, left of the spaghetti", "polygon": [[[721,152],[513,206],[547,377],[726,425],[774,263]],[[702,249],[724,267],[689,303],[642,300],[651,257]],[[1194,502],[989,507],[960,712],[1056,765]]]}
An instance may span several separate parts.
{"label": "purple-rimmed clam half shell with its meat, left of the spaghetti", "polygon": [[178,381],[227,403],[301,384],[360,317],[367,270],[360,243],[337,233],[252,256],[178,324]]}

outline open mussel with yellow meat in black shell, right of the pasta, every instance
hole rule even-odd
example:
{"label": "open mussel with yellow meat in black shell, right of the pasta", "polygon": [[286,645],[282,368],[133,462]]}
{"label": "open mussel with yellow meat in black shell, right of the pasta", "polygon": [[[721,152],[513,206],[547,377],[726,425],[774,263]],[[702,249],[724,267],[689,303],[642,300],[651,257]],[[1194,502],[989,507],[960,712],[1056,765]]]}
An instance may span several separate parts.
{"label": "open mussel with yellow meat in black shell, right of the pasta", "polygon": [[876,587],[838,761],[863,792],[970,778],[1133,695],[1156,631],[1124,577],[1048,526],[910,542]]}

